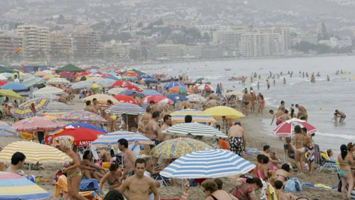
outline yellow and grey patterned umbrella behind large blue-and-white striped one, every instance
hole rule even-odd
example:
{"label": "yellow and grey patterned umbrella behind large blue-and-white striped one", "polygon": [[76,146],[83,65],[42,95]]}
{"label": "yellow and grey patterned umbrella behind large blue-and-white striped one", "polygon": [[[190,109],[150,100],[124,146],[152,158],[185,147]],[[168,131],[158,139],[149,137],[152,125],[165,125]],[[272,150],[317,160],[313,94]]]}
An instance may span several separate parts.
{"label": "yellow and grey patterned umbrella behind large blue-and-white striped one", "polygon": [[157,158],[179,158],[188,153],[213,149],[212,146],[191,138],[166,140],[149,151],[149,155]]}

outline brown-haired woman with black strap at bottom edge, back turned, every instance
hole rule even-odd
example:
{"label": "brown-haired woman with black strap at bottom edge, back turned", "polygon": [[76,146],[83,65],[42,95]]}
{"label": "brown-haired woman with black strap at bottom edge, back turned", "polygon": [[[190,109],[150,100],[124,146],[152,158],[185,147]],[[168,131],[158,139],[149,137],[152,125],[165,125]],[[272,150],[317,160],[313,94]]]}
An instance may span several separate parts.
{"label": "brown-haired woman with black strap at bottom edge, back turned", "polygon": [[205,180],[201,184],[206,200],[238,200],[233,195],[224,190],[218,190],[217,184],[213,180]]}

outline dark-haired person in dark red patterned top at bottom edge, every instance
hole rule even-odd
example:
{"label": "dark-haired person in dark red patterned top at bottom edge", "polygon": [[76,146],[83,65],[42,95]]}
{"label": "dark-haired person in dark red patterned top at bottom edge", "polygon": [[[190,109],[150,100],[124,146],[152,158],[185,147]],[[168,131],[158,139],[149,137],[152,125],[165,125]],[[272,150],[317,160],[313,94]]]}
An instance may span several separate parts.
{"label": "dark-haired person in dark red patterned top at bottom edge", "polygon": [[263,183],[259,178],[247,178],[245,184],[237,185],[229,193],[239,200],[256,200],[255,191],[262,187]]}

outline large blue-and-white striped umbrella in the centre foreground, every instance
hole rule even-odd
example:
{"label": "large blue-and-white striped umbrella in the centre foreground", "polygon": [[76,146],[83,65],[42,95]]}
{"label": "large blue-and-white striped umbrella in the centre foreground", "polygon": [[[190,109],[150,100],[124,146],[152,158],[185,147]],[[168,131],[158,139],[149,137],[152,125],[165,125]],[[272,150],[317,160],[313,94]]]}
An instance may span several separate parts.
{"label": "large blue-and-white striped umbrella in the centre foreground", "polygon": [[224,149],[196,151],[176,159],[160,172],[169,178],[218,178],[246,174],[255,165]]}

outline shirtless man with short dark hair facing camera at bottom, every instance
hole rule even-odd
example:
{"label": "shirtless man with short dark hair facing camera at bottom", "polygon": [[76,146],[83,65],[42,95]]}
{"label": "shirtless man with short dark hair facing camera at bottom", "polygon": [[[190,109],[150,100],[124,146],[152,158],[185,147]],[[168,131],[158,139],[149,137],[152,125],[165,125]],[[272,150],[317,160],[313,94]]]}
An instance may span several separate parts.
{"label": "shirtless man with short dark hair facing camera at bottom", "polygon": [[[159,193],[153,180],[144,176],[146,171],[146,161],[138,158],[135,161],[135,175],[127,178],[118,189],[128,200],[148,200],[149,193],[154,194],[154,200],[159,199]],[[128,195],[125,191],[128,189]]]}

